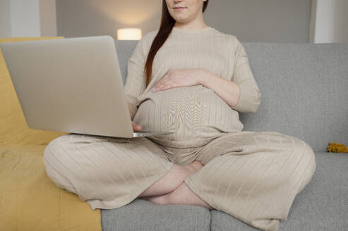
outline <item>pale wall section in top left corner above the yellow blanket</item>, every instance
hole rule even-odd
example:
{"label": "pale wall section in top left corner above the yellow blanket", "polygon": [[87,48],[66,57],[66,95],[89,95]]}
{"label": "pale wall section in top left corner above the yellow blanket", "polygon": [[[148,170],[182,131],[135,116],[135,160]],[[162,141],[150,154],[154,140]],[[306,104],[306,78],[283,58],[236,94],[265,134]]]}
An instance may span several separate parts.
{"label": "pale wall section in top left corner above the yellow blanket", "polygon": [[55,0],[0,0],[0,37],[56,36]]}

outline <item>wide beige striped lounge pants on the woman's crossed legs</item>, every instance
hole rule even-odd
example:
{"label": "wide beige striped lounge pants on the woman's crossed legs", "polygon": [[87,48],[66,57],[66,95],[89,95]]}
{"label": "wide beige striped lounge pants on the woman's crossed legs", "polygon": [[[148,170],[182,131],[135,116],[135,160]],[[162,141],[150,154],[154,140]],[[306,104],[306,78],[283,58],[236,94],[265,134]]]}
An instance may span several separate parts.
{"label": "wide beige striped lounge pants on the woman's crossed legs", "polygon": [[130,203],[174,163],[188,164],[182,159],[203,164],[185,180],[192,192],[260,230],[278,230],[316,170],[311,146],[279,132],[232,132],[190,149],[163,147],[146,137],[68,134],[44,150],[47,175],[93,210]]}

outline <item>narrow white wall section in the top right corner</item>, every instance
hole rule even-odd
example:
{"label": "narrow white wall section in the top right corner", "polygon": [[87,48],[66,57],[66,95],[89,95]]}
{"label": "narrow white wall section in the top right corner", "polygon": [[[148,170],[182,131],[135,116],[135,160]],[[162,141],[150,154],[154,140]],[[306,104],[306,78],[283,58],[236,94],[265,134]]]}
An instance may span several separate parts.
{"label": "narrow white wall section in the top right corner", "polygon": [[348,42],[348,1],[312,0],[310,42]]}

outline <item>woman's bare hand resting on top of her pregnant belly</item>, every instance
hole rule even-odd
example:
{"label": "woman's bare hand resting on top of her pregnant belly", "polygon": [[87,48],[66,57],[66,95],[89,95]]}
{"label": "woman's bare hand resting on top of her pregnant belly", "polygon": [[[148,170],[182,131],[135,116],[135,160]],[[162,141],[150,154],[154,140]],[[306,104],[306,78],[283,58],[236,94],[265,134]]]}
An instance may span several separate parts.
{"label": "woman's bare hand resting on top of her pregnant belly", "polygon": [[173,87],[188,87],[200,85],[200,77],[203,72],[200,68],[195,69],[176,69],[171,70],[167,75],[164,75],[160,81],[158,81],[152,92],[160,90],[167,90]]}

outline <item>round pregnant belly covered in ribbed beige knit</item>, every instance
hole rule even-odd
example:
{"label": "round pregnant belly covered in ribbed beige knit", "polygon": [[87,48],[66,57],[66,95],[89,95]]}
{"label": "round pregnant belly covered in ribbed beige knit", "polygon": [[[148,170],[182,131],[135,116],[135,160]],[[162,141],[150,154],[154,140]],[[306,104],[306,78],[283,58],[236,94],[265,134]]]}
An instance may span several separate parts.
{"label": "round pregnant belly covered in ribbed beige knit", "polygon": [[134,123],[144,131],[175,132],[149,138],[190,142],[243,129],[238,112],[202,85],[148,92],[140,100]]}

